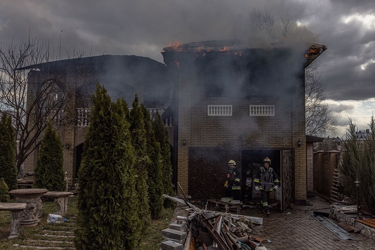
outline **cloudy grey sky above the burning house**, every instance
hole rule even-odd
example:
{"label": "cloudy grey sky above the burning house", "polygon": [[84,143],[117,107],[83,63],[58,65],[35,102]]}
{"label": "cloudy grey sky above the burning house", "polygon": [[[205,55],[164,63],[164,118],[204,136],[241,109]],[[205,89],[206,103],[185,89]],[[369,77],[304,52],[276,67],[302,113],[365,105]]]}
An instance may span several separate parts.
{"label": "cloudy grey sky above the burning house", "polygon": [[252,8],[288,14],[327,50],[316,59],[326,102],[345,137],[349,118],[368,128],[375,111],[374,0],[0,0],[1,48],[28,36],[48,43],[55,59],[138,55],[163,62],[183,44],[241,38]]}

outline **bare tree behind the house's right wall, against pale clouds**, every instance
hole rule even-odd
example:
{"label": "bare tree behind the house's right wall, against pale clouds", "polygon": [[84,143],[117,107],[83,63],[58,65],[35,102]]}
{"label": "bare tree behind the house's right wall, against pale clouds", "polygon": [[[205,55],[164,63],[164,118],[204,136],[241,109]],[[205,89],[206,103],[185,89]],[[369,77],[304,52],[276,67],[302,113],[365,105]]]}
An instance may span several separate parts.
{"label": "bare tree behind the house's right wall, against pale clouds", "polygon": [[325,88],[319,67],[312,63],[305,69],[306,134],[308,135],[327,136],[336,132],[337,119],[325,103]]}

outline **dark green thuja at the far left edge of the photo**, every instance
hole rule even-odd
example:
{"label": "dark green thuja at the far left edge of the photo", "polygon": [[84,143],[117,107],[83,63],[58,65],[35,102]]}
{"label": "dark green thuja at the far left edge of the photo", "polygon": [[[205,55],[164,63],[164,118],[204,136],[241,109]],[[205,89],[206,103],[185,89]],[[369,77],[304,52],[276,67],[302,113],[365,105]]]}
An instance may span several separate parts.
{"label": "dark green thuja at the far left edge of the photo", "polygon": [[16,132],[5,112],[1,113],[0,131],[0,177],[12,190],[17,188]]}

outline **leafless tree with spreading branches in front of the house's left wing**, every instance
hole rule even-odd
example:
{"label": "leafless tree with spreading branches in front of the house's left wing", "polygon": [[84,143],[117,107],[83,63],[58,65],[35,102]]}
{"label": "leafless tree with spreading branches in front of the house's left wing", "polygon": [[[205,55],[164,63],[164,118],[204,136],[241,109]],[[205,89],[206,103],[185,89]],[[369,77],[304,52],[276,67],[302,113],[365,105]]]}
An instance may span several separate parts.
{"label": "leafless tree with spreading branches in front of the house's left wing", "polygon": [[33,38],[18,46],[0,48],[0,108],[12,117],[17,133],[18,171],[27,156],[40,144],[41,133],[50,120],[58,128],[63,123],[64,107],[69,100],[65,76],[42,77],[32,65],[48,63],[48,43]]}

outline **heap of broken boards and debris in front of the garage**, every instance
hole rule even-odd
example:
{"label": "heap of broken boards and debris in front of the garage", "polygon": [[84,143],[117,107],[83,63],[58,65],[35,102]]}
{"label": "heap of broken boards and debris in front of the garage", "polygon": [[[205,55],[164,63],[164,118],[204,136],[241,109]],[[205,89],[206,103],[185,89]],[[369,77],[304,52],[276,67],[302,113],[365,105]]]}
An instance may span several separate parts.
{"label": "heap of broken boards and debris in front of the garage", "polygon": [[188,206],[187,216],[177,216],[177,222],[186,223],[183,250],[267,250],[262,243],[271,242],[251,235],[252,226],[262,225],[263,218],[209,211],[188,200],[164,197]]}

